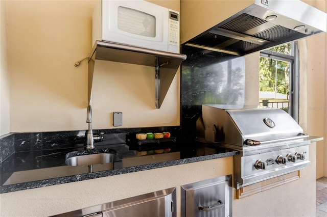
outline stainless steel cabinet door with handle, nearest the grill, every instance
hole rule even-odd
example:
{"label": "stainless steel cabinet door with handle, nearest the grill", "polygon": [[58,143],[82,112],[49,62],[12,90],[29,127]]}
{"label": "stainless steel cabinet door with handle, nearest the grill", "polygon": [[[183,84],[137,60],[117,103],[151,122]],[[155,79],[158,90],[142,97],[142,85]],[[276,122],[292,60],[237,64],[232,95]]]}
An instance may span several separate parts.
{"label": "stainless steel cabinet door with handle, nearest the grill", "polygon": [[181,186],[181,216],[232,215],[231,175]]}

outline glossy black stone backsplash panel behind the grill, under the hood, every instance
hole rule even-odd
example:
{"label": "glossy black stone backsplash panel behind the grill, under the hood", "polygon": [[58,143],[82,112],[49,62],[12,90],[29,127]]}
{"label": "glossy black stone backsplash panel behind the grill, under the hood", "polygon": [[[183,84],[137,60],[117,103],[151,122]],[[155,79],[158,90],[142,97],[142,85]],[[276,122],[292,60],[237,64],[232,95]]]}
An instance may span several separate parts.
{"label": "glossy black stone backsplash panel behind the grill, under the hood", "polygon": [[245,58],[188,45],[181,52],[187,58],[180,67],[180,123],[194,140],[202,104],[244,104]]}

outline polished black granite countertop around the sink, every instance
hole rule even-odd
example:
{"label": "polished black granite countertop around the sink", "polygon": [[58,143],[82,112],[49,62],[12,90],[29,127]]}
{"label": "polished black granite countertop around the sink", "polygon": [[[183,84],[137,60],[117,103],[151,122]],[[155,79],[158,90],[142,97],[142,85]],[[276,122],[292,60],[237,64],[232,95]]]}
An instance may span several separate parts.
{"label": "polished black granite countertop around the sink", "polygon": [[188,164],[239,153],[222,148],[219,144],[200,142],[177,141],[161,143],[160,147],[158,145],[156,144],[152,148],[150,146],[142,148],[137,145],[132,147],[126,143],[96,144],[96,149],[109,148],[118,152],[120,157],[113,163],[94,165],[91,171],[88,166],[67,166],[65,164],[65,156],[68,152],[81,152],[84,147],[15,152],[0,165],[0,193]]}

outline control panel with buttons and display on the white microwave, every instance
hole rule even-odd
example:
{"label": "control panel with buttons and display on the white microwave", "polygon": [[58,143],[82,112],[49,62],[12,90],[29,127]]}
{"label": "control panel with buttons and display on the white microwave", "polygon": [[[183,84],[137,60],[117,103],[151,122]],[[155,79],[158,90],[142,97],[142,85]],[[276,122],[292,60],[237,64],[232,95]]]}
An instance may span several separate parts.
{"label": "control panel with buttons and display on the white microwave", "polygon": [[179,13],[169,11],[168,51],[178,52],[179,47]]}

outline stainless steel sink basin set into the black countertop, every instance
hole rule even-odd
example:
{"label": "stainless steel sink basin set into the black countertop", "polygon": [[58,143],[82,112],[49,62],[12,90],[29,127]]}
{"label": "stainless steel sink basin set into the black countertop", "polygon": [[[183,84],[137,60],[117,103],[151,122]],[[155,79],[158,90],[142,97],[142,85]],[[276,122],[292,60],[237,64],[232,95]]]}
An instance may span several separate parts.
{"label": "stainless steel sink basin set into the black countertop", "polygon": [[66,154],[66,165],[88,166],[107,164],[120,160],[118,153],[111,149],[73,151]]}

